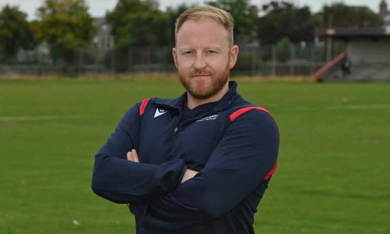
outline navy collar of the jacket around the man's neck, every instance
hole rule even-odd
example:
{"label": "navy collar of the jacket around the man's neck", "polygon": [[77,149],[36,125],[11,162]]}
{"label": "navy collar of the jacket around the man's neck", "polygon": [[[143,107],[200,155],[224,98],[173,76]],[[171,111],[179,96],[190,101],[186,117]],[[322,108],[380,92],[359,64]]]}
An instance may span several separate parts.
{"label": "navy collar of the jacket around the man's neck", "polygon": [[[237,82],[229,81],[229,91],[219,100],[217,101],[216,106],[213,108],[214,111],[222,110],[228,106],[240,96],[240,93],[237,91]],[[170,109],[178,109],[179,111],[185,105],[187,100],[187,92],[181,94],[178,98],[174,99],[163,99],[163,98],[154,98],[154,105],[162,106]]]}

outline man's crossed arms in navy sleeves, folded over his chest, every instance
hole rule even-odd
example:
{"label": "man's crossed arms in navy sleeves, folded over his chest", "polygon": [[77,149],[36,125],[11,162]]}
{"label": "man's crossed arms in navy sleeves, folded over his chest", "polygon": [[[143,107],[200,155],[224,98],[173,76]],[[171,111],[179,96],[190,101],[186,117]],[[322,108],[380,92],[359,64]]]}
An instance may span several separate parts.
{"label": "man's crossed arms in navy sleeves, folded over his chest", "polygon": [[183,159],[139,163],[132,151],[138,144],[132,133],[139,128],[137,114],[123,118],[96,155],[92,189],[113,202],[131,203],[139,225],[173,231],[218,219],[256,189],[275,164],[279,133],[265,112],[237,118],[199,173],[188,170]]}

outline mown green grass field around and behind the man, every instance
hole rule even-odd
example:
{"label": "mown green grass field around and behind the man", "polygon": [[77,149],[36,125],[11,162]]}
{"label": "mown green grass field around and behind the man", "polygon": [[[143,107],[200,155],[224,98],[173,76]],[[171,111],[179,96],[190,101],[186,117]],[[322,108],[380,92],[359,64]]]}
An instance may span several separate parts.
{"label": "mown green grass field around and behind the man", "polygon": [[[256,233],[390,233],[390,83],[239,81],[281,132]],[[93,156],[124,112],[177,81],[0,81],[0,233],[135,233],[93,194]],[[77,224],[77,225],[76,225]]]}

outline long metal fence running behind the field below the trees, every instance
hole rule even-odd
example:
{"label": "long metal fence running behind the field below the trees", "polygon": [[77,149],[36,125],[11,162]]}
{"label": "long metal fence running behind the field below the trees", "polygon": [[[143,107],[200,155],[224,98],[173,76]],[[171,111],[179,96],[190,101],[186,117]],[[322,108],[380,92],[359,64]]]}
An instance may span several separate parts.
{"label": "long metal fence running behind the field below the trees", "polygon": [[[328,60],[342,52],[343,45],[325,43],[240,46],[233,75],[295,76],[312,75]],[[329,53],[331,51],[331,53]],[[0,55],[1,58],[1,55]],[[80,49],[70,62],[52,59],[48,50],[21,51],[14,61],[0,60],[4,76],[96,76],[134,73],[176,73],[172,46],[136,47],[127,50]]]}

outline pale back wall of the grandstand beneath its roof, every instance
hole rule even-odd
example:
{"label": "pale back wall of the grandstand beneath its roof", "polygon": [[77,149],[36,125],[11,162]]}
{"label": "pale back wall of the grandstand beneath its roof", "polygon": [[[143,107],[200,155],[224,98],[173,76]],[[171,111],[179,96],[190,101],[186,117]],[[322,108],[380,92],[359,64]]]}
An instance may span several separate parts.
{"label": "pale back wall of the grandstand beneath its roof", "polygon": [[390,63],[390,38],[350,38],[348,58],[352,63]]}

